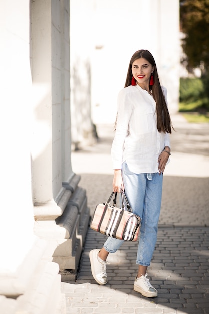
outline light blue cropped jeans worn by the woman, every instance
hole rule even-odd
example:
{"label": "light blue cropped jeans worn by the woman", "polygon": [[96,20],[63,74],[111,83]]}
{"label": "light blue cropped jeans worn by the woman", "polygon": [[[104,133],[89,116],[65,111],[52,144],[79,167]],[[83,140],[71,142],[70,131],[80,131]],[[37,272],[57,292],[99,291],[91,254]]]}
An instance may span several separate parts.
{"label": "light blue cropped jeans worn by the woman", "polygon": [[[149,266],[157,241],[163,175],[159,173],[135,174],[124,162],[122,177],[128,202],[134,214],[141,217],[136,264]],[[107,252],[114,253],[123,242],[123,240],[109,237],[104,243],[104,248]]]}

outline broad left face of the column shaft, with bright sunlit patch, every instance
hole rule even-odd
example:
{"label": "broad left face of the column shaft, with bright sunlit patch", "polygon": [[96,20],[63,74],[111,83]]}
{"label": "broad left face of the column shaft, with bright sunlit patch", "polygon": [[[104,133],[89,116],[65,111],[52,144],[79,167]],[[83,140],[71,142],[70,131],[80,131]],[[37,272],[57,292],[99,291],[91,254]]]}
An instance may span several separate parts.
{"label": "broad left face of the column shaft, with bright sunlit patch", "polygon": [[51,0],[32,2],[34,203],[53,201]]}

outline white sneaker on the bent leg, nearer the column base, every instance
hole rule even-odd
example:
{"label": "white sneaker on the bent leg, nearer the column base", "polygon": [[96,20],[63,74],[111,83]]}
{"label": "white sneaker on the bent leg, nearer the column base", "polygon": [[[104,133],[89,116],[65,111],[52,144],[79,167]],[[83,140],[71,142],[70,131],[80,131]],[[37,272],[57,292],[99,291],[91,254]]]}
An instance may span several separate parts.
{"label": "white sneaker on the bent leg, nearer the column base", "polygon": [[107,283],[106,265],[109,262],[103,261],[98,257],[100,249],[94,249],[89,252],[91,263],[91,272],[97,283],[103,285]]}

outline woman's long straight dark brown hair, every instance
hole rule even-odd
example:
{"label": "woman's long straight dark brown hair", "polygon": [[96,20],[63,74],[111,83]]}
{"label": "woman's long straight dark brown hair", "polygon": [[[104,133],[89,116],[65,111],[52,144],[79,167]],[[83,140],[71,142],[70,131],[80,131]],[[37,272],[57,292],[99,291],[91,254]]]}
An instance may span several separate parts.
{"label": "woman's long straight dark brown hair", "polygon": [[167,132],[171,134],[172,122],[171,122],[170,115],[168,112],[165,97],[163,95],[162,88],[160,86],[156,63],[154,61],[152,54],[148,50],[144,50],[144,49],[138,50],[131,57],[129,67],[128,67],[128,73],[126,77],[125,87],[131,85],[131,80],[133,77],[132,64],[136,59],[139,59],[139,58],[146,59],[149,63],[151,63],[152,66],[154,66],[154,71],[153,71],[154,85],[150,85],[149,87],[150,87],[150,90],[152,90],[152,96],[156,102],[157,129],[159,132],[164,132],[164,133]]}

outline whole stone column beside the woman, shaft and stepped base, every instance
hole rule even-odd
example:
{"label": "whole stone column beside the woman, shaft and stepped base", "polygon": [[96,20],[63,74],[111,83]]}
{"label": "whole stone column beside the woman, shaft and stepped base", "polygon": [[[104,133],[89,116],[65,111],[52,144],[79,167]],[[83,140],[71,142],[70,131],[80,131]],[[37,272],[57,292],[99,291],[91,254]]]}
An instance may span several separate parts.
{"label": "whole stone column beside the woman, shaft and stepped base", "polygon": [[89,209],[71,167],[69,2],[32,2],[34,232],[45,259],[76,271]]}

